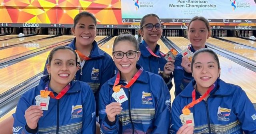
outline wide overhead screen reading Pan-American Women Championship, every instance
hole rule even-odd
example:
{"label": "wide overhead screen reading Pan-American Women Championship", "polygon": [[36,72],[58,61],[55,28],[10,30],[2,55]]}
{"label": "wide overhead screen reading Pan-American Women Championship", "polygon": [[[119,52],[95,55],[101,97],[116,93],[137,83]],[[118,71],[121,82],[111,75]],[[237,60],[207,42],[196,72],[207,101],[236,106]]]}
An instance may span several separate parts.
{"label": "wide overhead screen reading Pan-American Women Championship", "polygon": [[149,13],[162,22],[189,22],[204,16],[209,22],[256,23],[256,0],[122,0],[122,22],[140,22]]}

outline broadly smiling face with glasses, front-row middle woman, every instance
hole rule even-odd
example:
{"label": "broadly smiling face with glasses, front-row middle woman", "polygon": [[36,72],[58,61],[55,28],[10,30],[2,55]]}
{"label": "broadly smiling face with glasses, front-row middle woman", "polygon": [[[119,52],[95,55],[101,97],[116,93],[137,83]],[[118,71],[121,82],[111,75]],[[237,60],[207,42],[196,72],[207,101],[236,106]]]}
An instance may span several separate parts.
{"label": "broadly smiling face with glasses, front-row middle woman", "polygon": [[[125,47],[124,47],[125,46]],[[140,52],[136,52],[136,48],[134,44],[130,41],[119,41],[115,44],[114,50],[113,50],[113,59],[116,64],[116,67],[120,72],[123,74],[132,74],[136,72],[136,63],[140,58]],[[119,55],[122,54],[122,52],[126,53],[128,57],[134,57],[134,58],[128,58],[125,54],[123,58],[117,59]],[[116,58],[117,57],[117,58]]]}

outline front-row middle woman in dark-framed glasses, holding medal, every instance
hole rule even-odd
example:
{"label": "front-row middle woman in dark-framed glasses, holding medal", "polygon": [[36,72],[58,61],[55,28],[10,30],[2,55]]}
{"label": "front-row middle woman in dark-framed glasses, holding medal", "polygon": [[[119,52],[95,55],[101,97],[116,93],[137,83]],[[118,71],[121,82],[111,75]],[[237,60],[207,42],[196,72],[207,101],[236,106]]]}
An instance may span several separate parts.
{"label": "front-row middle woman in dark-framed glasses, holding medal", "polygon": [[100,131],[168,134],[169,90],[162,77],[137,64],[140,51],[136,38],[122,33],[114,40],[112,55],[119,72],[100,89]]}

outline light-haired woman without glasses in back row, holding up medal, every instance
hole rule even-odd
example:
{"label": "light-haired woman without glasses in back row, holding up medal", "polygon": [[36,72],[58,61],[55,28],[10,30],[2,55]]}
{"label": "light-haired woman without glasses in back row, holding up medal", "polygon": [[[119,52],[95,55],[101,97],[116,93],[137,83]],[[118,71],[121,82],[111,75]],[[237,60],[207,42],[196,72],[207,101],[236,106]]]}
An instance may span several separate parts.
{"label": "light-haired woman without glasses in back row, holding up medal", "polygon": [[[188,45],[188,49],[191,52],[194,53],[201,48],[207,48],[205,43],[210,36],[210,24],[206,18],[196,16],[190,20],[188,24],[188,39],[191,44]],[[191,60],[187,56],[182,57],[182,54],[179,53],[175,58],[174,66],[175,96],[178,96],[188,83],[193,80]]]}

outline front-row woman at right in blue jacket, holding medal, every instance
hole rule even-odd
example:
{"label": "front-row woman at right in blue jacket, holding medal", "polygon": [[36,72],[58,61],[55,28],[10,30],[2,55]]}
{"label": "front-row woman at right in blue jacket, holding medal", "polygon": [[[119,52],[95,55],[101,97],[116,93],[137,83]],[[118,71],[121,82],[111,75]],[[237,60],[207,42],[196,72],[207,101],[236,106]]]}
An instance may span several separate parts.
{"label": "front-row woman at right in blue jacket, holding medal", "polygon": [[240,86],[218,78],[220,62],[212,50],[196,51],[191,70],[194,80],[172,104],[172,134],[256,134],[252,102]]}

